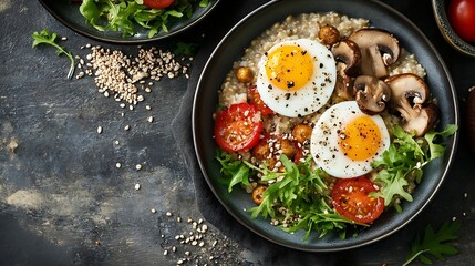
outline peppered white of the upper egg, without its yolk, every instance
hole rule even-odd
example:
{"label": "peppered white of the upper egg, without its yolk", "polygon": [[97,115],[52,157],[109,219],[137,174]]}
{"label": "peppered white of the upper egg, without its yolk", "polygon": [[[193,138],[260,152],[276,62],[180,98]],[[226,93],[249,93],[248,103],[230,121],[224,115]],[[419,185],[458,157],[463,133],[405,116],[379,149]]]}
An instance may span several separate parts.
{"label": "peppered white of the upper egg, without its yolk", "polygon": [[283,45],[297,45],[307,51],[313,59],[313,74],[300,90],[289,92],[286,88],[277,88],[266,74],[267,57],[262,55],[257,76],[260,98],[272,111],[285,116],[298,117],[317,112],[328,102],[335,85],[333,54],[323,44],[307,39],[280,42],[269,49],[267,54]]}

